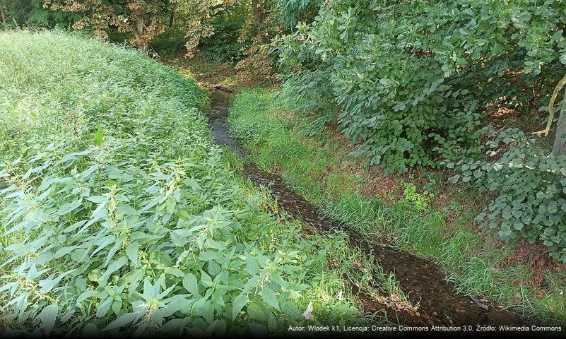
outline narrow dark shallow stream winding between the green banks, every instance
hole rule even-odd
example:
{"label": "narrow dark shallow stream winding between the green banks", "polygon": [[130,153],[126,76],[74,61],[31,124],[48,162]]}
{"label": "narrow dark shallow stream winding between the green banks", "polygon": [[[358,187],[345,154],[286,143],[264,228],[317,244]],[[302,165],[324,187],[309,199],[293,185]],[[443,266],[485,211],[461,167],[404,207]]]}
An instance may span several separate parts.
{"label": "narrow dark shallow stream winding between the green banks", "polygon": [[[213,90],[212,108],[208,113],[209,126],[216,144],[232,148],[245,159],[247,153],[228,133],[226,117],[228,117],[229,99],[230,93]],[[281,177],[263,172],[246,162],[244,162],[244,176],[256,184],[268,187],[281,208],[295,218],[300,218],[313,225],[319,232],[326,233],[334,229],[347,232],[350,236],[350,244],[359,247],[366,254],[372,254],[385,273],[393,272],[411,303],[418,304],[418,312],[399,311],[371,297],[360,295],[365,311],[374,312],[385,309],[389,319],[396,319],[405,325],[519,326],[528,324],[519,316],[494,305],[479,302],[478,299],[465,295],[454,294],[454,285],[444,280],[444,273],[435,263],[389,246],[365,241],[364,237],[351,230],[343,222],[330,218],[324,213],[324,210],[312,206],[305,198],[295,194],[285,186]]]}

